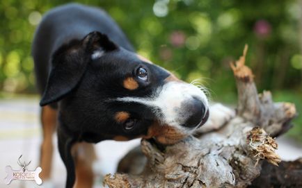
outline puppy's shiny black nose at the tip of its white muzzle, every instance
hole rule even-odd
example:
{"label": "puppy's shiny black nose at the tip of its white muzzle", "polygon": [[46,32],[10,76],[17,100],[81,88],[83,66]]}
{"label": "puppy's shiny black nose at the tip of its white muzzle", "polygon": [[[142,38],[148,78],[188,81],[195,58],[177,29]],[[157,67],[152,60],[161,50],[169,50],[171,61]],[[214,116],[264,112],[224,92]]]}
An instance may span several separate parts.
{"label": "puppy's shiny black nose at the tip of its white muzzle", "polygon": [[205,105],[196,97],[193,97],[193,99],[186,103],[185,110],[189,116],[182,126],[187,128],[194,128],[198,126],[203,117],[205,117]]}

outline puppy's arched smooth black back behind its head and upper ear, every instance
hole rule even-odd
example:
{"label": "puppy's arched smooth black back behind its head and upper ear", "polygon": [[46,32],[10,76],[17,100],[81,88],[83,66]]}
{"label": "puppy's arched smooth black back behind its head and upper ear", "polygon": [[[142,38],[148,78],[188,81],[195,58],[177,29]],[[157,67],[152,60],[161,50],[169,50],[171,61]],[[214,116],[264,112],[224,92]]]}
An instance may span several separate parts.
{"label": "puppy's arched smooth black back behind its head and upper ear", "polygon": [[55,8],[43,17],[35,33],[32,49],[40,94],[45,90],[52,53],[62,44],[74,39],[81,40],[92,31],[100,31],[116,44],[134,51],[116,22],[99,8],[71,3]]}

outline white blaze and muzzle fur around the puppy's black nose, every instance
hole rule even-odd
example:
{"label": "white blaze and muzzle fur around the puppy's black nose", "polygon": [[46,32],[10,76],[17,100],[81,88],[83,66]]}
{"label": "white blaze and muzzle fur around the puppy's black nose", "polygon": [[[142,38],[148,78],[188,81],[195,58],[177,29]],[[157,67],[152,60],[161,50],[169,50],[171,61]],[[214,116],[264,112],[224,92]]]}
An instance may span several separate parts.
{"label": "white blaze and muzzle fur around the puppy's black nose", "polygon": [[[154,114],[158,120],[169,126],[177,127],[182,130],[187,130],[181,125],[184,119],[182,118],[184,110],[182,104],[191,99],[199,99],[205,106],[205,112],[208,110],[208,101],[202,89],[189,83],[181,83],[171,81],[157,89],[154,94],[148,98],[145,97],[121,97],[116,101],[136,102],[148,105],[153,108]],[[160,111],[160,112],[159,112]]]}

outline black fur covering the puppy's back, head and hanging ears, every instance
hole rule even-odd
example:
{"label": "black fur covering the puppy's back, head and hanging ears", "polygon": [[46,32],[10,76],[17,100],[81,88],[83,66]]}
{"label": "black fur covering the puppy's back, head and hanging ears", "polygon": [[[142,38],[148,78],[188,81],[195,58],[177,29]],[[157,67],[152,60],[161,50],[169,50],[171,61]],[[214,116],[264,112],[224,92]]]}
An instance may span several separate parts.
{"label": "black fur covering the puppy's back, head and hanging ears", "polygon": [[[107,37],[108,36],[108,37]],[[104,51],[93,60],[95,51]],[[117,24],[103,10],[69,4],[51,10],[42,19],[33,41],[35,76],[40,105],[58,104],[58,148],[67,169],[66,187],[74,185],[75,142],[97,143],[115,136],[129,139],[147,134],[154,110],[139,103],[122,103],[123,96],[151,96],[164,84],[168,71],[140,60]],[[136,70],[148,70],[148,81],[136,78]],[[122,86],[132,76],[138,89]],[[117,112],[136,119],[125,130],[114,119]]]}

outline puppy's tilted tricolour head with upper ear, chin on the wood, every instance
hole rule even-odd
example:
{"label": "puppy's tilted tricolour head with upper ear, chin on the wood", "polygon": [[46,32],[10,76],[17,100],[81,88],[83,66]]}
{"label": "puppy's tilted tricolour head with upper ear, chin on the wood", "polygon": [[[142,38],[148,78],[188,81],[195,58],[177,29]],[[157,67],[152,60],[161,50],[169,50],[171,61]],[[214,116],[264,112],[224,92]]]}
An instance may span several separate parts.
{"label": "puppy's tilted tricolour head with upper ear, chin on the wood", "polygon": [[155,137],[173,144],[208,117],[198,87],[98,32],[58,49],[40,105],[61,101],[61,120],[87,142]]}

